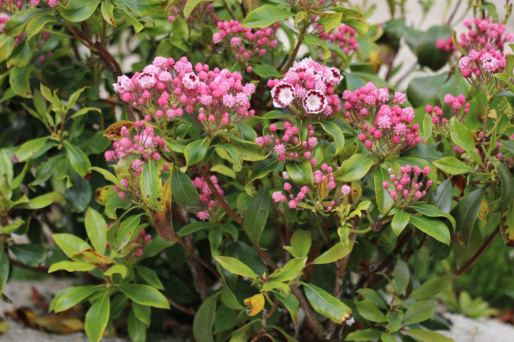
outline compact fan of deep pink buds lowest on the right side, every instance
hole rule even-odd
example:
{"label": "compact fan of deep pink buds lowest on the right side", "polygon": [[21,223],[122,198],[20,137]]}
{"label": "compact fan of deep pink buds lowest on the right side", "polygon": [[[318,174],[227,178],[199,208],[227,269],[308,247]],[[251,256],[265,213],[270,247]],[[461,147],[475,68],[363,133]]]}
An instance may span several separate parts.
{"label": "compact fan of deep pink buds lowest on the right side", "polygon": [[417,166],[400,166],[400,175],[395,176],[392,169],[388,170],[389,179],[393,182],[384,180],[382,187],[388,190],[389,196],[399,208],[406,208],[414,205],[420,198],[427,194],[427,189],[432,186],[432,180],[428,179],[424,186],[424,180],[430,173],[430,167],[420,169]]}

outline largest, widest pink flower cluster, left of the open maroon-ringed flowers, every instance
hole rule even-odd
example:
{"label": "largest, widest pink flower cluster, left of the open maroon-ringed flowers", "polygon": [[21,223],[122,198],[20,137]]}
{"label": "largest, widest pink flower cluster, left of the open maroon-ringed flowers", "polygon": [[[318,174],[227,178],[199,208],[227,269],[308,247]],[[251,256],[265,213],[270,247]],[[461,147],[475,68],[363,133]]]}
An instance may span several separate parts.
{"label": "largest, widest pink flower cluster, left of the open maroon-ringed flowers", "polygon": [[191,114],[209,135],[254,114],[249,110],[252,83],[243,84],[243,76],[227,69],[209,70],[207,64],[193,65],[186,57],[156,57],[142,73],[132,78],[118,77],[114,90],[123,101],[132,104],[157,123]]}

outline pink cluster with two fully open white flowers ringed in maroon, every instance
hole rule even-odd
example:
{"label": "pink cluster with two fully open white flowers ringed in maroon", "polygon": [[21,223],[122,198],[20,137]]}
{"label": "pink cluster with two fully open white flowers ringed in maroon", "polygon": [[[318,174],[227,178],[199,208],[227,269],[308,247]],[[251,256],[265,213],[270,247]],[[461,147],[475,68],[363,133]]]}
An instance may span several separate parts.
{"label": "pink cluster with two fully open white flowers ringed in maroon", "polygon": [[295,62],[282,79],[270,79],[273,105],[289,108],[300,119],[321,119],[341,110],[334,86],[343,79],[337,68],[305,58]]}

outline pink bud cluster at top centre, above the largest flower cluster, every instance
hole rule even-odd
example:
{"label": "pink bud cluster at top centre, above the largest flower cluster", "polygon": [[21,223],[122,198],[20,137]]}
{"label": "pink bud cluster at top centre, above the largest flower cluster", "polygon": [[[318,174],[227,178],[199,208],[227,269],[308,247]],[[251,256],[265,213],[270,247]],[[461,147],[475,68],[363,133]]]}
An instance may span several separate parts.
{"label": "pink bud cluster at top centre, above the largest flower cluster", "polygon": [[241,62],[264,56],[278,44],[275,35],[280,22],[262,29],[249,29],[235,20],[218,22],[217,26],[219,32],[212,35],[212,41],[214,44],[223,44],[226,50]]}

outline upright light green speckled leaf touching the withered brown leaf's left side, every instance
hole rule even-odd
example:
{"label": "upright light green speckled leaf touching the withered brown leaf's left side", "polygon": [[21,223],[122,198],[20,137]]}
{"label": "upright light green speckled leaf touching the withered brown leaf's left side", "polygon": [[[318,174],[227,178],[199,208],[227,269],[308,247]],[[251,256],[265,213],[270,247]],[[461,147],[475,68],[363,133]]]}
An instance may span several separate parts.
{"label": "upright light green speckled leaf touching the withered brown leaf's left side", "polygon": [[150,209],[162,211],[164,198],[162,195],[161,174],[153,160],[148,160],[139,178],[141,198]]}

